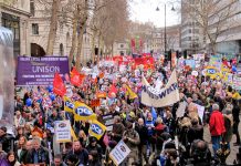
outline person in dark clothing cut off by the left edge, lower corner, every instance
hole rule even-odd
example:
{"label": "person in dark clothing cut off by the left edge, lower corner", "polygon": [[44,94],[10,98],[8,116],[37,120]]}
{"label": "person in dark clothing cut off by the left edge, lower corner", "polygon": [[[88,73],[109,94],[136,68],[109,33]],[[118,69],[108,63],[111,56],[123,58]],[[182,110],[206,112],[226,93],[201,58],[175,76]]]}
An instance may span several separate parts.
{"label": "person in dark clothing cut off by the left edge, lower corner", "polygon": [[0,127],[0,144],[2,145],[2,151],[9,153],[11,149],[11,142],[7,136],[7,127]]}

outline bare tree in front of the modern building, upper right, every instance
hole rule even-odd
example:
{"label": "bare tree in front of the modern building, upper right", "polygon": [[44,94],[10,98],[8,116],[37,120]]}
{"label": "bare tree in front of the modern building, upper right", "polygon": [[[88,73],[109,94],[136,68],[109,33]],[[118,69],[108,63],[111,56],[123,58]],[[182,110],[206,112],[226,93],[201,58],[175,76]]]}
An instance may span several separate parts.
{"label": "bare tree in front of the modern building, upper right", "polygon": [[209,43],[212,53],[216,53],[221,37],[222,41],[228,39],[230,20],[237,14],[235,2],[237,0],[182,0],[181,12],[186,19],[195,20],[195,24],[202,31],[205,48]]}

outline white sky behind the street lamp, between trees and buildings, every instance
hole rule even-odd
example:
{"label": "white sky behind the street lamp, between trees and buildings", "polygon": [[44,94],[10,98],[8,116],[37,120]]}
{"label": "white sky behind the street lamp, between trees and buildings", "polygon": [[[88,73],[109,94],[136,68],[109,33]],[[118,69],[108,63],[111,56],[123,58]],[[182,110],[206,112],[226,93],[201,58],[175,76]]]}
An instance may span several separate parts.
{"label": "white sky behind the street lamp, between trees and buildings", "polygon": [[[165,3],[167,4],[167,25],[178,24],[179,3],[168,0],[129,0],[130,20],[138,22],[153,22],[160,28],[165,25]],[[157,7],[159,11],[156,11]],[[171,11],[171,8],[176,11]]]}

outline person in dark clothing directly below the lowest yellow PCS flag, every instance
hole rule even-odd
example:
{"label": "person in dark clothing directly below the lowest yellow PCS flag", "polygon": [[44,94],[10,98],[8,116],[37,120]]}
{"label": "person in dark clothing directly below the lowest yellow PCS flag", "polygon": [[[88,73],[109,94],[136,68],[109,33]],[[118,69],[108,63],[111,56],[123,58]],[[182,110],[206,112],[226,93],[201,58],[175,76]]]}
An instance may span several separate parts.
{"label": "person in dark clothing directly below the lowest yellow PCS flag", "polygon": [[102,147],[97,144],[97,138],[91,136],[88,138],[90,144],[86,149],[88,152],[88,164],[92,166],[101,166],[102,165]]}

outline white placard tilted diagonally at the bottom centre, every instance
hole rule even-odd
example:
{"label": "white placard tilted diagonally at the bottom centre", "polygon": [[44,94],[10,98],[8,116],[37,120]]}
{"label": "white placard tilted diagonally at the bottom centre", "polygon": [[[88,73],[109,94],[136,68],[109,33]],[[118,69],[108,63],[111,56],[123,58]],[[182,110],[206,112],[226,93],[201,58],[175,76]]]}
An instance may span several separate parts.
{"label": "white placard tilted diagonally at the bottom centre", "polygon": [[123,141],[120,141],[109,153],[109,157],[115,163],[115,165],[119,165],[129,155],[129,147]]}

